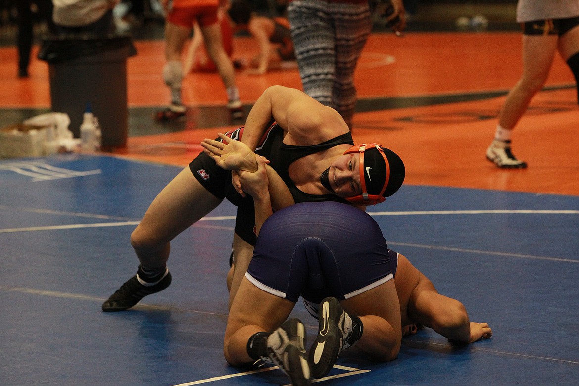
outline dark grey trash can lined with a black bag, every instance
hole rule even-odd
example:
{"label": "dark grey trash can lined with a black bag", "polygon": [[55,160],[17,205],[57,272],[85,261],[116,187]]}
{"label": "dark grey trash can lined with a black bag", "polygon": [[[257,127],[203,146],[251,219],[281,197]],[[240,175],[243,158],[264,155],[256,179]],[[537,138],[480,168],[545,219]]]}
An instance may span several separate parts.
{"label": "dark grey trash can lined with a black bag", "polygon": [[75,137],[90,104],[101,126],[102,149],[126,146],[127,58],[135,54],[130,35],[43,38],[38,58],[49,64],[51,109],[68,114]]}

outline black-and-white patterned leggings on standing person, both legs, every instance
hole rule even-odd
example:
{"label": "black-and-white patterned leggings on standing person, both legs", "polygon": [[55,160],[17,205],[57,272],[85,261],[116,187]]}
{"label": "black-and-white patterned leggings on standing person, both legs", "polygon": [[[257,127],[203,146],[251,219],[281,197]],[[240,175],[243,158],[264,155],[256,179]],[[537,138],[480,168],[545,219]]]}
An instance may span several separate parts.
{"label": "black-and-white patterned leggings on standing person, both legs", "polygon": [[294,0],[287,10],[303,91],[336,109],[351,128],[354,70],[372,30],[368,3]]}

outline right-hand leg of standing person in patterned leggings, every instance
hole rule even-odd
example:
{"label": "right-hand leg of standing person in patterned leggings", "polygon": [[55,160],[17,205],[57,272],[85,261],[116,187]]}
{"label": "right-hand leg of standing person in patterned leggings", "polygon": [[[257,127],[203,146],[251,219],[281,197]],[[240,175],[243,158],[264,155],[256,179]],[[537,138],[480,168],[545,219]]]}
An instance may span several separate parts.
{"label": "right-hand leg of standing person in patterned leggings", "polygon": [[354,71],[372,31],[372,19],[368,3],[331,3],[330,6],[336,29],[336,78],[332,87],[332,103],[351,130],[358,99]]}

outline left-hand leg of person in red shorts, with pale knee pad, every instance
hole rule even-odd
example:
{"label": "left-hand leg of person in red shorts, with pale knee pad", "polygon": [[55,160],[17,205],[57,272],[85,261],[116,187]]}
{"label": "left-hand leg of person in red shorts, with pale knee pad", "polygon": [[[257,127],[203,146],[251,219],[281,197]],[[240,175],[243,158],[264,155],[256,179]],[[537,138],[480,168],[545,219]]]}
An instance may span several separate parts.
{"label": "left-hand leg of person in red shorts, with pale knee pad", "polygon": [[156,119],[160,121],[179,120],[185,117],[185,106],[181,99],[184,78],[181,51],[189,38],[192,27],[175,24],[170,19],[171,14],[167,16],[165,22],[166,64],[163,67],[163,80],[171,90],[171,104],[167,109],[157,112]]}

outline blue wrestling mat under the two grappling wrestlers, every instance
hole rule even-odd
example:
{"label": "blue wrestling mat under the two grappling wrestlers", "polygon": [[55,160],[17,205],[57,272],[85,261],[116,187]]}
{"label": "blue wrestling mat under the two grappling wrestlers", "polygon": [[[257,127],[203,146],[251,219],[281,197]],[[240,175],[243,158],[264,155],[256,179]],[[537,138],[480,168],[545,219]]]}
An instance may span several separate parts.
{"label": "blue wrestling mat under the two grappling wrestlers", "polygon": [[[175,238],[168,289],[101,312],[137,269],[131,231],[179,170],[109,156],[0,160],[1,385],[289,382],[223,358],[229,203]],[[577,384],[579,197],[405,185],[369,212],[390,248],[494,335],[453,347],[424,329],[389,363],[345,351],[321,384]],[[300,303],[294,314],[311,343],[317,321]]]}

